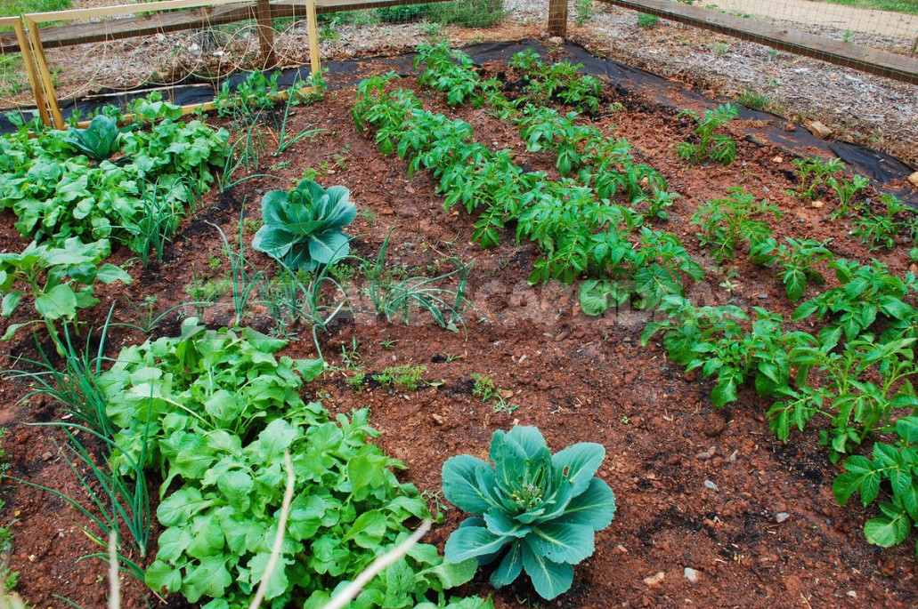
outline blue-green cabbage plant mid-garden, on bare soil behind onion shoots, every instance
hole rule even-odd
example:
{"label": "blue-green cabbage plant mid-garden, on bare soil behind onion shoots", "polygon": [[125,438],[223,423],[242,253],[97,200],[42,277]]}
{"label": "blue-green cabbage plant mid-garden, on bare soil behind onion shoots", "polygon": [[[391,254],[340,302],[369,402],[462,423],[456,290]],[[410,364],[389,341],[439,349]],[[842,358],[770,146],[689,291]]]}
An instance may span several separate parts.
{"label": "blue-green cabbage plant mid-garden, on bare soil behind onion shoots", "polygon": [[351,247],[341,231],[357,216],[343,186],[328,190],[303,180],[290,192],[271,191],[262,197],[264,226],[252,248],[281,260],[294,271],[315,271],[347,256]]}

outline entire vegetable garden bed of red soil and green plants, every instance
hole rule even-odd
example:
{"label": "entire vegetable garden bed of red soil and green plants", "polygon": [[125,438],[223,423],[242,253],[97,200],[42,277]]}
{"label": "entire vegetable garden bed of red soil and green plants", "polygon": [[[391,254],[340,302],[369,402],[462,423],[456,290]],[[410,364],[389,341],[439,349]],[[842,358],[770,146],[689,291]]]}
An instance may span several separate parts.
{"label": "entire vegetable garden bed of red soil and green plants", "polygon": [[431,519],[351,606],[913,606],[912,209],[562,50],[415,68],[0,138],[7,592],[319,608]]}

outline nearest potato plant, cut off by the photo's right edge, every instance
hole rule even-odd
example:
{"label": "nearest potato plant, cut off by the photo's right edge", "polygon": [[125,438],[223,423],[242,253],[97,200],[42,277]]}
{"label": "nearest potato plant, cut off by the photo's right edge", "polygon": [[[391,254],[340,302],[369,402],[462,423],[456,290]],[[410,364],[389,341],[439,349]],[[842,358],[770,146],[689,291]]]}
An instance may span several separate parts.
{"label": "nearest potato plant, cut off by the photo's right edge", "polygon": [[838,504],[845,505],[851,495],[860,493],[861,504],[868,507],[879,496],[880,483],[889,482],[890,501],[879,504],[882,515],[864,525],[867,540],[883,548],[905,541],[918,524],[918,416],[902,416],[895,433],[894,443],[873,445],[871,458],[848,457],[845,472],[832,484]]}

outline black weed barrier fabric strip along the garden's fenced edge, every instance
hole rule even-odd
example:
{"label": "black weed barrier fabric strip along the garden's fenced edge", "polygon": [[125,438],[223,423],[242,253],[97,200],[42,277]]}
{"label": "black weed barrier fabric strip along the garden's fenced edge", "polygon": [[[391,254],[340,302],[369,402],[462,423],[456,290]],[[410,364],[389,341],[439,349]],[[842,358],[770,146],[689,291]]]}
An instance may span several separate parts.
{"label": "black weed barrier fabric strip along the garden's fenced edge", "polygon": [[[483,42],[465,47],[466,53],[476,63],[486,61],[509,61],[513,55],[521,50],[532,49],[547,57],[549,48],[535,40],[521,42]],[[618,61],[603,60],[590,53],[585,48],[567,43],[561,47],[564,59],[575,63],[582,63],[584,72],[598,76],[610,83],[620,94],[638,94],[652,102],[681,111],[686,106],[693,108],[713,108],[721,102],[711,101],[700,94],[679,88],[677,84],[667,81],[651,72],[638,70]],[[412,66],[414,53],[405,53],[392,57],[368,57],[347,61],[323,61],[322,68],[330,89],[341,89],[353,86],[366,76],[382,72],[397,72],[401,75],[413,74],[416,71]],[[223,82],[229,83],[229,89],[245,81],[249,73],[230,76]],[[303,81],[309,75],[308,66],[289,68],[281,71],[278,84],[287,88],[297,81]],[[222,86],[222,82],[219,86]],[[123,107],[131,99],[143,97],[151,91],[162,91],[163,99],[178,105],[204,104],[213,101],[218,92],[218,86],[212,83],[188,83],[178,87],[144,88],[128,92],[100,91],[98,94],[80,99],[62,100],[61,112],[64,118],[73,116],[73,111],[79,109],[84,116],[88,116],[106,105]],[[681,105],[680,100],[685,100]],[[903,203],[918,209],[918,192],[915,192],[908,183],[908,176],[915,170],[902,161],[877,149],[868,148],[845,142],[842,140],[823,140],[816,138],[806,128],[797,126],[788,131],[784,127],[788,120],[781,116],[760,110],[751,110],[743,105],[736,105],[740,111],[741,120],[760,121],[763,127],[756,128],[756,133],[750,134],[746,139],[761,145],[773,145],[786,153],[797,157],[812,157],[814,153],[823,156],[834,155],[845,162],[851,172],[860,173],[868,177],[871,183],[890,194],[894,194]],[[0,112],[0,134],[10,133],[16,129],[6,118],[6,110]],[[23,109],[21,112],[28,112]]]}

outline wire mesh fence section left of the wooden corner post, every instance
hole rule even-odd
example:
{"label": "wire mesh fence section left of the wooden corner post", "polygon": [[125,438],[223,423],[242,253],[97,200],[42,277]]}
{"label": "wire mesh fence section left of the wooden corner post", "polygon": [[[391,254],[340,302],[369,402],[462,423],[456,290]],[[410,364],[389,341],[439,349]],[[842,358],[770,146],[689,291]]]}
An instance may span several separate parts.
{"label": "wire mesh fence section left of the wooden corner post", "polygon": [[[125,0],[81,2],[75,7],[124,4]],[[219,2],[219,0],[218,0]],[[488,28],[507,17],[501,0],[427,2],[337,10],[344,3],[317,2],[318,39],[323,58],[341,59],[413,48],[438,39],[445,28]],[[359,6],[360,1],[348,3]],[[374,6],[376,5],[376,6]],[[271,21],[271,61],[265,61],[264,22],[244,17],[252,2],[196,7],[191,14],[136,12],[106,17],[79,16],[64,23],[39,24],[52,83],[62,99],[112,94],[140,87],[168,88],[190,83],[216,83],[237,72],[308,63],[306,11],[295,3],[282,7]],[[188,13],[188,11],[185,11]],[[189,23],[191,21],[192,23]],[[230,22],[227,22],[230,21]],[[193,26],[174,31],[177,24]],[[125,37],[137,28],[140,35]],[[91,39],[85,44],[58,43]],[[269,65],[270,64],[270,65]],[[34,105],[17,39],[0,24],[0,107]]]}

